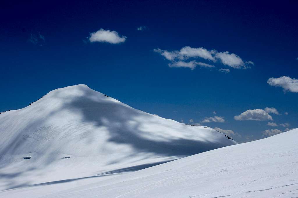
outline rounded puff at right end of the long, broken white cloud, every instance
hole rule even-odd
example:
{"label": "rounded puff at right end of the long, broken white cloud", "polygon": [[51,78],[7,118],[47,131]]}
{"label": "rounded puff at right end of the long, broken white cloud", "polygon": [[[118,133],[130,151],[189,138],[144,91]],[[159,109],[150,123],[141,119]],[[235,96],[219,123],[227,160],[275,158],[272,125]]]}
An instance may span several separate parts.
{"label": "rounded puff at right end of the long, broken white cloud", "polygon": [[229,52],[218,52],[215,54],[215,57],[218,58],[224,65],[228,65],[235,69],[246,69],[246,65],[243,60],[234,53]]}

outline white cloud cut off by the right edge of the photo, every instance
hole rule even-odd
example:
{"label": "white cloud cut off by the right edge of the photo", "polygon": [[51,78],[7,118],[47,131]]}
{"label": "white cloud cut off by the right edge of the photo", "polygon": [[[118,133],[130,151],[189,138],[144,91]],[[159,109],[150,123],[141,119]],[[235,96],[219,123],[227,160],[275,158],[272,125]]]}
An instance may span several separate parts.
{"label": "white cloud cut off by the right edge of the photo", "polygon": [[298,79],[288,76],[282,76],[279,78],[269,78],[267,83],[274,87],[282,87],[283,91],[290,91],[298,93]]}

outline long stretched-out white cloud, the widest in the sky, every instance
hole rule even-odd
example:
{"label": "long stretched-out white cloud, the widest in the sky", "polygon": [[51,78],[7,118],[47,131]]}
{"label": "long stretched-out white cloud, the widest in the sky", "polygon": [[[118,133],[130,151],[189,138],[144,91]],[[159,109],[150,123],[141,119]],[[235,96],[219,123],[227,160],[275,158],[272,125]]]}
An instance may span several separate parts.
{"label": "long stretched-out white cloud, the widest in the sky", "polygon": [[[167,51],[161,50],[159,48],[153,49],[154,52],[159,53],[160,55],[164,56],[167,60],[173,61],[174,63],[170,64],[173,65],[177,61],[187,60],[189,58],[203,58],[207,61],[221,61],[222,64],[228,65],[232,68],[236,69],[246,69],[249,68],[249,65],[253,65],[252,61],[243,61],[237,54],[229,53],[229,52],[217,52],[216,50],[207,50],[203,47],[190,47],[185,46],[182,47],[180,50],[174,51]],[[204,67],[215,67],[213,65],[207,63],[199,62],[198,65]],[[221,72],[229,72],[229,69],[220,69]]]}

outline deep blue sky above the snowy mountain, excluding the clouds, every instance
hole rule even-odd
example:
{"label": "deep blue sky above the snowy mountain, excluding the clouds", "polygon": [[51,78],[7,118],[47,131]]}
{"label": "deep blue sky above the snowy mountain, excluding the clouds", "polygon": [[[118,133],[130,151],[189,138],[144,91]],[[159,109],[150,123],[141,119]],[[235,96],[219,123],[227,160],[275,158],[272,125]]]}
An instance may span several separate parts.
{"label": "deep blue sky above the snowy mountain, excluding the clouds", "polygon": [[[298,1],[88,1],[2,4],[0,111],[27,106],[69,85],[90,88],[164,118],[229,129],[246,141],[262,138],[268,121],[236,121],[251,109],[276,108],[274,123],[297,128],[298,93],[267,83],[298,78]],[[147,26],[144,31],[136,28]],[[88,42],[103,28],[127,37],[120,44]],[[37,42],[30,42],[34,35]],[[39,37],[42,35],[44,40]],[[153,49],[184,46],[229,51],[251,69],[170,68]],[[230,69],[228,74],[217,69]],[[288,112],[288,115],[284,113]]]}

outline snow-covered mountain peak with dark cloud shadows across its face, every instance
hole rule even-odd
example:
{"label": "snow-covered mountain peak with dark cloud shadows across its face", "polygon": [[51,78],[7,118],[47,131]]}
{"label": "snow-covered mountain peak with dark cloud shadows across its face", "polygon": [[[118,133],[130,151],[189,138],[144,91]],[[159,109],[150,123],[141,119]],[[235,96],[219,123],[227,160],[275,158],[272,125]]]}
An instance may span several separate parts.
{"label": "snow-covered mountain peak with dark cloud shadows across its face", "polygon": [[3,189],[11,183],[138,170],[236,144],[211,128],[136,110],[86,85],[56,89],[28,107],[1,114],[0,129],[0,173],[18,172],[0,178]]}

